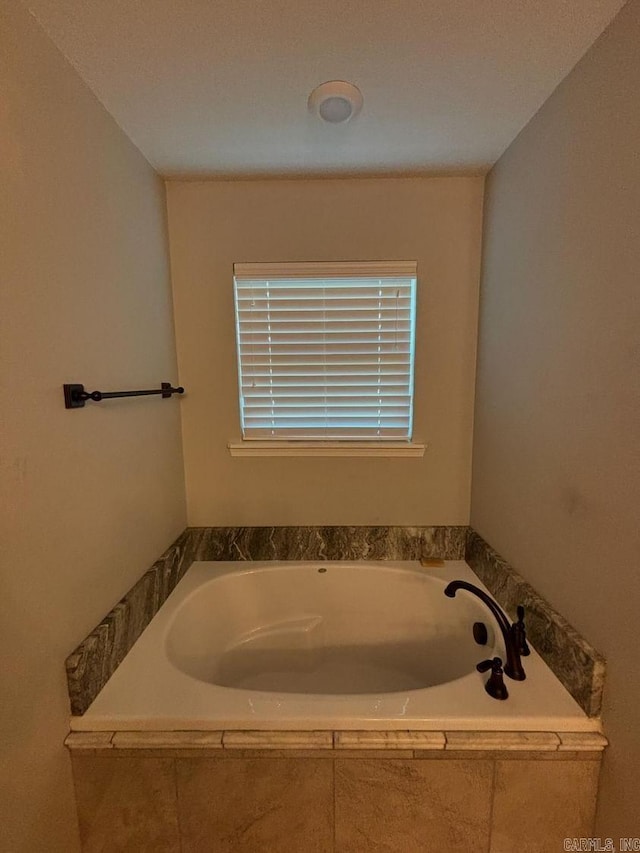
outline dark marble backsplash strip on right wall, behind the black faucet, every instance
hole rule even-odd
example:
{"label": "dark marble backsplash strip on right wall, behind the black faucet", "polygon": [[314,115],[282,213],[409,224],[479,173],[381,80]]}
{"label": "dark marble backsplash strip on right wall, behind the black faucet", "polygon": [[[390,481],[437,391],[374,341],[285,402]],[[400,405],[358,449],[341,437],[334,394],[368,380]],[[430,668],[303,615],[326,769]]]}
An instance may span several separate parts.
{"label": "dark marble backsplash strip on right wall, behind the black faucet", "polygon": [[600,716],[605,660],[485,540],[469,529],[466,562],[515,618],[525,608],[527,636],[538,654],[589,717]]}

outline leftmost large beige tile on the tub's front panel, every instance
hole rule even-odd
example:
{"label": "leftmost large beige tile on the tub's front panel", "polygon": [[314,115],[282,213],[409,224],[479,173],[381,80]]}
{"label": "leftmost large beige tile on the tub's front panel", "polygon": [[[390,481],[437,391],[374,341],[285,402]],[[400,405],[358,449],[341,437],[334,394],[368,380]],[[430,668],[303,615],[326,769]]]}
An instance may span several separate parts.
{"label": "leftmost large beige tile on the tub's front panel", "polygon": [[114,752],[72,757],[83,853],[177,853],[173,760]]}

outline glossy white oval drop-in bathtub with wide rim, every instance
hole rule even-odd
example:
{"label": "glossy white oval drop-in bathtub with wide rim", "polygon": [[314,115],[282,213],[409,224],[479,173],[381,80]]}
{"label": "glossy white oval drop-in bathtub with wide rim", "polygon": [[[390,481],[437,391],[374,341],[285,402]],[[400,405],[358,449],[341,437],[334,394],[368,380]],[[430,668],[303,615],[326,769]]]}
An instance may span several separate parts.
{"label": "glossy white oval drop-in bathtub with wide rim", "polygon": [[454,579],[485,589],[462,561],[195,562],[71,728],[599,731],[533,648],[488,696],[502,636]]}

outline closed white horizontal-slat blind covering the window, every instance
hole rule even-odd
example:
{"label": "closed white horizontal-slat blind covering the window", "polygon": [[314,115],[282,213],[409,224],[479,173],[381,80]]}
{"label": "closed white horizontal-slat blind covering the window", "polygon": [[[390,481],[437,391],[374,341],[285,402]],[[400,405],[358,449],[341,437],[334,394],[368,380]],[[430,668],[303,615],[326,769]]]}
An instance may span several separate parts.
{"label": "closed white horizontal-slat blind covering the window", "polygon": [[409,440],[416,264],[235,264],[245,439]]}

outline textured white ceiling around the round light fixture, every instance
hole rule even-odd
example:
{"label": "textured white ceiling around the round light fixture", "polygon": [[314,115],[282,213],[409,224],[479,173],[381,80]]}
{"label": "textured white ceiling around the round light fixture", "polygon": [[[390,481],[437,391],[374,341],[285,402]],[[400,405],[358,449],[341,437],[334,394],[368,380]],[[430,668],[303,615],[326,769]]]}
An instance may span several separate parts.
{"label": "textured white ceiling around the round light fixture", "polygon": [[[166,176],[484,172],[624,0],[24,0]],[[359,116],[307,111],[325,80]]]}

